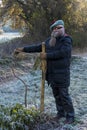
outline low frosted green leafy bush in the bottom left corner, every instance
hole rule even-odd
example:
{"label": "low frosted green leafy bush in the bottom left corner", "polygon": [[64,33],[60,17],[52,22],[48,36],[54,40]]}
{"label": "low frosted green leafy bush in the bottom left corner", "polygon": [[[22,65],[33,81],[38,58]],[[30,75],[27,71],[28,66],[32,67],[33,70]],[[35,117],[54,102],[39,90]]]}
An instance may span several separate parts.
{"label": "low frosted green leafy bush in the bottom left corner", "polygon": [[0,106],[0,129],[3,130],[33,130],[40,118],[40,111],[34,107],[26,109],[20,104],[11,108]]}

